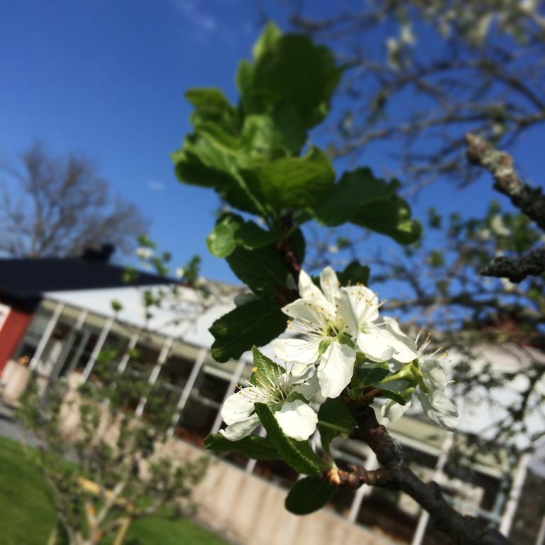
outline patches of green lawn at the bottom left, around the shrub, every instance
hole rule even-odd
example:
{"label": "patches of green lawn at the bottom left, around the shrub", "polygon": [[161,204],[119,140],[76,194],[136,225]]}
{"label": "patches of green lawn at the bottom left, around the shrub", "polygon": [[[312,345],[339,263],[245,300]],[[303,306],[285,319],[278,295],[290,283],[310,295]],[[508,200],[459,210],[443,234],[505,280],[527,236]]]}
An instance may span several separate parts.
{"label": "patches of green lawn at the bottom left, around the shrub", "polygon": [[[32,451],[0,437],[0,541],[45,545],[55,513]],[[149,517],[134,522],[126,545],[223,545],[225,541],[191,520]]]}

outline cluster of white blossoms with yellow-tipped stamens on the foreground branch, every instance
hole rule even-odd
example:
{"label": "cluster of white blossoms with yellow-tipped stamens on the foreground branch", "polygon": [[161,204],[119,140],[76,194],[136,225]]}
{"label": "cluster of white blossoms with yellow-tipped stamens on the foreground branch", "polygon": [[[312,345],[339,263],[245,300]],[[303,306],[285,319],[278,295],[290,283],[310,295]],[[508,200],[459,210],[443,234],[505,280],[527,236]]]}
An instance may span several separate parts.
{"label": "cluster of white blossoms with yellow-tipped stamens on the foreground branch", "polygon": [[288,335],[272,342],[278,358],[286,362],[285,370],[229,396],[221,412],[228,424],[221,432],[226,439],[241,439],[259,425],[255,403],[271,407],[287,436],[307,439],[316,429],[309,402],[318,392],[324,398],[343,392],[357,397],[352,384],[356,362],[382,370],[373,386],[389,398],[382,407],[384,417],[399,417],[414,393],[431,420],[456,428],[456,406],[444,394],[446,372],[439,359],[425,356],[427,343],[417,348],[395,319],[379,320],[380,303],[368,287],[341,287],[327,267],[320,274],[320,288],[300,272],[299,296],[282,309],[290,316]]}

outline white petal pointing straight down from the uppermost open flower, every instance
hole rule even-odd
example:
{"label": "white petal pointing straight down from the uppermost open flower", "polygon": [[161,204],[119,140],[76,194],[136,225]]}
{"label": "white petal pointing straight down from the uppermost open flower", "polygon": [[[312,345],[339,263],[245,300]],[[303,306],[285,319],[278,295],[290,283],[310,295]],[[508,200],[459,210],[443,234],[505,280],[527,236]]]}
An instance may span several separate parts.
{"label": "white petal pointing straight down from the uppermost open flower", "polygon": [[331,343],[321,357],[318,381],[324,397],[338,397],[351,381],[356,352],[347,344]]}

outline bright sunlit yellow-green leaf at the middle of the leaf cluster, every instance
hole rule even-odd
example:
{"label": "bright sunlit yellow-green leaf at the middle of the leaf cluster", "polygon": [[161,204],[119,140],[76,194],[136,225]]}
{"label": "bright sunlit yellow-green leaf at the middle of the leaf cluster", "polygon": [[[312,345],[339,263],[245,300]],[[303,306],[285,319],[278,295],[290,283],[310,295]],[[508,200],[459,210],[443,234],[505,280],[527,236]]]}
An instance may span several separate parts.
{"label": "bright sunlit yellow-green leaf at the middle of the leaf cluster", "polygon": [[272,211],[312,208],[333,185],[335,172],[325,153],[314,146],[303,157],[285,157],[256,163],[242,170],[253,194]]}

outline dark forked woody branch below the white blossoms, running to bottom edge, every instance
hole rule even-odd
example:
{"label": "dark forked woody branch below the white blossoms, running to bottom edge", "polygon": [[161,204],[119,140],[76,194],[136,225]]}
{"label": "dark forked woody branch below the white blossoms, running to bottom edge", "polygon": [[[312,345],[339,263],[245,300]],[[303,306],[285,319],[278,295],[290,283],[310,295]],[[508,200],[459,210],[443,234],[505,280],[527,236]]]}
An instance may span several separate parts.
{"label": "dark forked woody branch below the white blossoms, running to bottom edge", "polygon": [[335,475],[326,475],[332,483],[351,488],[368,484],[402,490],[429,512],[436,528],[448,534],[455,544],[510,544],[496,529],[483,526],[476,517],[456,511],[446,501],[437,483],[420,480],[405,463],[401,444],[378,423],[372,407],[353,407],[352,412],[358,423],[353,431],[354,439],[367,443],[382,467],[373,471],[356,466],[352,466],[350,471],[339,470]]}

